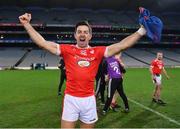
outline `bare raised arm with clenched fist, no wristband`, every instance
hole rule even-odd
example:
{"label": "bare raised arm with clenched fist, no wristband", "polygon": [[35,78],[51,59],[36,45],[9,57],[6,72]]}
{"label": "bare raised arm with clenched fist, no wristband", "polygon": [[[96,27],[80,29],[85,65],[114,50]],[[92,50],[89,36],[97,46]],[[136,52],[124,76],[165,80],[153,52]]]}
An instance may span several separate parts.
{"label": "bare raised arm with clenched fist, no wristband", "polygon": [[37,44],[39,47],[46,49],[47,51],[58,54],[57,53],[57,47],[58,45],[53,42],[46,41],[30,24],[31,21],[31,14],[25,13],[21,16],[19,16],[20,23],[24,26],[27,33],[33,40],[35,44]]}

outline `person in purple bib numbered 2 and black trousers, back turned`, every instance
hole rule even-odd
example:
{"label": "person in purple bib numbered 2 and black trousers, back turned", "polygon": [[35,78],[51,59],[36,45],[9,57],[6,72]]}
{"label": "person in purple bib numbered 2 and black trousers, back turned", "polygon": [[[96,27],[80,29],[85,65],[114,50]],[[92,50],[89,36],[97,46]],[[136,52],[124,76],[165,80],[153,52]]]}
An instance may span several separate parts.
{"label": "person in purple bib numbered 2 and black trousers, back turned", "polygon": [[[124,93],[124,89],[123,89],[123,74],[126,71],[124,69],[124,63],[122,62],[120,57],[121,57],[121,53],[118,53],[114,56],[106,58],[107,71],[108,71],[108,74],[106,75],[106,80],[109,80],[109,84],[108,84],[107,100],[106,100],[105,106],[103,108],[104,115],[108,111],[110,105],[112,105],[113,110],[116,111],[115,106],[116,106],[117,97],[114,96],[116,90],[123,100],[123,103],[125,106],[124,111],[129,112],[128,100],[127,100],[126,94]],[[113,97],[114,97],[114,99],[113,99]]]}

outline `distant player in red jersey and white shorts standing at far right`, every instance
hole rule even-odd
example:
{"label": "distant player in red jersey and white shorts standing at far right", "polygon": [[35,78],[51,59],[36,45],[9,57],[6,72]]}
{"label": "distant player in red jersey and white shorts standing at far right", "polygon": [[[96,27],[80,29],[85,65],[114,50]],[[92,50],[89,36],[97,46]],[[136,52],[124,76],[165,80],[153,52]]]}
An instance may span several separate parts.
{"label": "distant player in red jersey and white shorts standing at far right", "polygon": [[162,59],[163,59],[163,53],[158,52],[157,58],[151,62],[150,73],[152,76],[152,81],[155,84],[155,90],[154,90],[152,101],[156,102],[158,104],[165,105],[166,103],[160,99],[161,89],[162,89],[162,85],[161,85],[162,71],[165,74],[165,76],[167,77],[167,79],[169,79],[169,76],[167,75],[167,72],[164,68],[164,63],[163,63]]}

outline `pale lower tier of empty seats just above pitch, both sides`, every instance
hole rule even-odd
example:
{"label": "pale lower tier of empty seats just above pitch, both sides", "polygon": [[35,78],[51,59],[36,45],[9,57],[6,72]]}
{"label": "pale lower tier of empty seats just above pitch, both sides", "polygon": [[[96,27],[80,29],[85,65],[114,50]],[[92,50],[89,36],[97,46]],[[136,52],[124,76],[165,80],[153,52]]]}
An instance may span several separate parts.
{"label": "pale lower tier of empty seats just above pitch, both sides", "polygon": [[[21,56],[25,53],[25,51],[25,49],[17,47],[1,49],[0,67],[8,67],[14,65],[19,60],[19,58],[21,58]],[[156,52],[158,51],[162,51],[164,53],[164,62],[167,67],[180,66],[179,49],[130,48],[127,51],[125,51],[125,53],[123,53],[122,58],[127,67],[149,67],[149,65],[143,62],[150,63],[152,59],[156,58]],[[134,58],[128,55],[133,56]],[[139,59],[140,61],[138,61],[137,59]],[[32,63],[47,63],[49,67],[57,67],[58,62],[58,56],[54,56],[41,49],[34,49],[28,54],[28,56],[19,65],[19,67],[30,67]]]}

